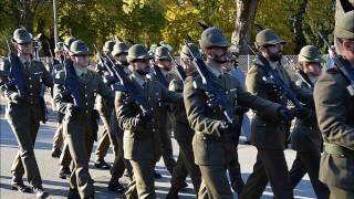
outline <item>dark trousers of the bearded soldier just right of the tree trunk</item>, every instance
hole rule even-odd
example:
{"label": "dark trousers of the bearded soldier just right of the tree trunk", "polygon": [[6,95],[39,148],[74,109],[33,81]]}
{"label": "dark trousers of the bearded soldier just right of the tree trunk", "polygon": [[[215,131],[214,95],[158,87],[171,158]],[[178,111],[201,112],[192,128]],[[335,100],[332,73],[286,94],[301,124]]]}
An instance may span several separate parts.
{"label": "dark trousers of the bearded soldier just right of the tree trunk", "polygon": [[253,172],[249,176],[240,199],[259,199],[266,189],[268,180],[275,199],[293,198],[285,156],[281,149],[258,148]]}

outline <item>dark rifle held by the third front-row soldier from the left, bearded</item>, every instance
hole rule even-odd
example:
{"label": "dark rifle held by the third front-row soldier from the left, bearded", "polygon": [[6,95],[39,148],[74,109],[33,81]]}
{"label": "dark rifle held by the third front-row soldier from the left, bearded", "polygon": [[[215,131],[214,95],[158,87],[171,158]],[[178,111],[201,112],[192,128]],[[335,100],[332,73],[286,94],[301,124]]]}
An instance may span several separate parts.
{"label": "dark rifle held by the third front-row soldier from the left, bearded", "polygon": [[126,93],[126,104],[134,102],[136,105],[139,106],[142,111],[142,116],[152,117],[152,107],[148,105],[146,98],[142,95],[140,91],[137,90],[136,85],[134,85],[133,81],[127,77],[127,74],[125,73],[123,67],[116,65],[110,56],[107,56],[107,60],[112,64],[111,70],[113,71],[114,76],[119,80],[118,83],[112,85],[113,91],[121,91]]}

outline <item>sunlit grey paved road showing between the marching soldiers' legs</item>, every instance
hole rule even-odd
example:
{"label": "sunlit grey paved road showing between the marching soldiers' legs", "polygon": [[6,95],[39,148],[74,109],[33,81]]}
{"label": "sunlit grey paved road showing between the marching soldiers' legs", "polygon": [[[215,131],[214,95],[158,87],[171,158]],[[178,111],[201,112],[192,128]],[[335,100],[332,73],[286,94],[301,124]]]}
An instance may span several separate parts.
{"label": "sunlit grey paved road showing between the marching soldiers' legs", "polygon": [[[3,111],[3,107],[2,107]],[[45,190],[50,192],[50,198],[59,199],[66,198],[69,184],[66,180],[60,179],[58,177],[59,172],[59,164],[58,159],[53,159],[51,157],[51,147],[52,147],[52,137],[55,130],[56,124],[53,122],[54,118],[50,118],[45,125],[41,125],[38,139],[35,143],[35,157],[41,170],[41,175],[43,178],[43,186]],[[102,129],[102,128],[101,128]],[[100,132],[101,133],[101,132]],[[8,123],[3,118],[3,112],[0,115],[0,198],[1,199],[30,199],[35,198],[30,193],[19,193],[17,191],[11,190],[10,180],[10,167],[13,160],[13,157],[17,153],[17,140],[9,128]],[[96,146],[96,145],[95,145]],[[174,140],[174,154],[177,158],[178,146]],[[294,151],[285,150],[287,160],[289,166],[292,164],[294,159]],[[243,180],[247,179],[249,174],[252,171],[252,166],[256,161],[256,148],[249,145],[240,145],[239,146],[239,157],[242,170]],[[107,181],[110,180],[110,174],[107,170],[98,170],[93,167],[94,154],[92,155],[92,159],[90,163],[90,172],[95,180],[96,187],[96,198],[105,199],[105,198],[122,198],[122,195],[117,195],[114,192],[110,192],[106,190]],[[110,154],[106,157],[108,163],[113,163],[113,154],[110,150]],[[159,161],[157,165],[157,169],[163,174],[163,179],[156,181],[156,192],[158,198],[165,198],[168,189],[169,189],[169,180],[170,175],[164,167],[163,161]],[[126,184],[126,179],[122,180],[123,184]],[[188,188],[186,188],[181,193],[180,198],[188,199],[195,198],[190,179],[187,179]],[[309,181],[309,177],[305,176],[301,184],[294,190],[295,198],[315,198],[314,192],[312,190],[311,184]],[[235,195],[235,198],[237,196]],[[268,186],[264,191],[262,199],[272,198],[271,188]]]}

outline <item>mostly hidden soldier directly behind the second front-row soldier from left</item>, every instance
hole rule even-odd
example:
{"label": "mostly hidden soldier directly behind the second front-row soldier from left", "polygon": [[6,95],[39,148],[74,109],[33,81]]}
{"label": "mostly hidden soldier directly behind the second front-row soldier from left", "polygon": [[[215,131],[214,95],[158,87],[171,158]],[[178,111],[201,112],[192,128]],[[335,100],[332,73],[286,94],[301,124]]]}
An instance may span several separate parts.
{"label": "mostly hidden soldier directly behind the second front-row soldier from left", "polygon": [[[76,38],[74,38],[74,36],[70,36],[64,41],[64,49],[66,51],[65,52],[66,59],[70,59],[70,46],[74,41],[76,41]],[[55,73],[55,75],[58,74],[58,72]],[[59,158],[59,165],[60,165],[59,177],[61,179],[69,179],[71,176],[70,164],[71,164],[72,158],[71,158],[71,155],[69,151],[67,142],[65,140],[65,136],[63,135],[63,124],[62,123],[63,123],[64,114],[61,113],[59,109],[56,109],[56,111],[58,111],[58,115],[60,116],[59,117],[60,121],[59,121],[58,129],[54,135],[54,143],[56,143],[55,138],[60,134],[62,134],[62,136],[64,137],[63,153],[61,153],[60,158]]]}

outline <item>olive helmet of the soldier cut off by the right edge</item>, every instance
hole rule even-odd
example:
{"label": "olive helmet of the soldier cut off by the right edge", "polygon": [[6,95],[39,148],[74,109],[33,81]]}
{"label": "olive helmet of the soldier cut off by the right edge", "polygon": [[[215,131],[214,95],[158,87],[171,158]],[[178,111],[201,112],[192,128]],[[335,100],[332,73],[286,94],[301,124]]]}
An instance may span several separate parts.
{"label": "olive helmet of the soldier cut off by the right edge", "polygon": [[354,10],[344,13],[335,21],[334,34],[341,39],[354,39]]}

